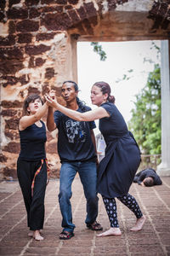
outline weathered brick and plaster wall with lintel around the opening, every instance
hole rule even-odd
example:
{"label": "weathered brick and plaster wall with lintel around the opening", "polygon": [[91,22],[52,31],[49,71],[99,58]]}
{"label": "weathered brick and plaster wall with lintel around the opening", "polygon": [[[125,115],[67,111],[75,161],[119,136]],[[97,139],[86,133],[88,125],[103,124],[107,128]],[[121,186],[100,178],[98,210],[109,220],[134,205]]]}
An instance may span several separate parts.
{"label": "weathered brick and plaster wall with lintel around the opening", "polygon": [[[169,38],[170,1],[1,0],[1,171],[17,177],[22,102],[65,79],[77,81],[77,40]],[[120,25],[121,24],[121,25]],[[52,177],[59,176],[57,131],[48,132]]]}

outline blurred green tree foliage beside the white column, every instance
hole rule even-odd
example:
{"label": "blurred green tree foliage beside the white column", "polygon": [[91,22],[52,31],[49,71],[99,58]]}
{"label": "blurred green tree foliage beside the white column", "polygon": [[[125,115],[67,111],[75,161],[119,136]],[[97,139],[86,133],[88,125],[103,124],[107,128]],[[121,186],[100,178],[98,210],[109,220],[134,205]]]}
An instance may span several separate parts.
{"label": "blurred green tree foliage beside the white column", "polygon": [[143,154],[161,154],[161,73],[158,64],[136,96],[128,126]]}

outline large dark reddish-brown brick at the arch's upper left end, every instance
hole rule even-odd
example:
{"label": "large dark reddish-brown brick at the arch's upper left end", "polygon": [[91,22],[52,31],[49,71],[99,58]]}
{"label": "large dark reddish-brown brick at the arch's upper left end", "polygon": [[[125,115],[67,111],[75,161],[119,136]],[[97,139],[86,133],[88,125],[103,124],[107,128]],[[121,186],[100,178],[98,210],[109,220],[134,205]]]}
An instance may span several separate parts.
{"label": "large dark reddish-brown brick at the arch's upper left end", "polygon": [[65,14],[48,14],[42,20],[42,25],[48,30],[66,30],[72,26],[71,18]]}

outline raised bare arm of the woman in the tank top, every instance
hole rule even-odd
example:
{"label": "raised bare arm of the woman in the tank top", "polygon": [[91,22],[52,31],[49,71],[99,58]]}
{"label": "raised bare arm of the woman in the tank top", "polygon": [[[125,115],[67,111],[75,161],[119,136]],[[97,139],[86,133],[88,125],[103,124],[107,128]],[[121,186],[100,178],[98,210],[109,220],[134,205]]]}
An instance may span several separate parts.
{"label": "raised bare arm of the woman in the tank top", "polygon": [[45,115],[46,111],[48,109],[47,103],[45,102],[41,108],[37,110],[37,113],[34,113],[32,115],[25,115],[21,117],[20,123],[19,123],[19,129],[20,131],[23,131],[26,129],[26,127],[35,124],[38,120],[42,118],[42,116]]}

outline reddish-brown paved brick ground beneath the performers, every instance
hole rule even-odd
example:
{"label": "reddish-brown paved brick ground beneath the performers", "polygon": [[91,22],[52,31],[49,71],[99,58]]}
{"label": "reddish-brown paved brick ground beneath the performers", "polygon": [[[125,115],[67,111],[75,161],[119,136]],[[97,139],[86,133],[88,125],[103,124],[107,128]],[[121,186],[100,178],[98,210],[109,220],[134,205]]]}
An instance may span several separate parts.
{"label": "reddish-brown paved brick ground beneath the performers", "polygon": [[[144,229],[133,233],[133,213],[117,202],[120,237],[96,237],[84,224],[86,215],[82,184],[77,177],[73,183],[72,212],[77,228],[69,241],[59,240],[61,215],[59,212],[59,181],[50,180],[46,192],[44,241],[27,236],[26,210],[18,182],[0,183],[0,255],[170,255],[170,177],[162,177],[163,184],[144,188],[133,184],[130,193],[139,201],[147,221]],[[99,197],[98,221],[104,230],[109,228],[103,202]]]}

